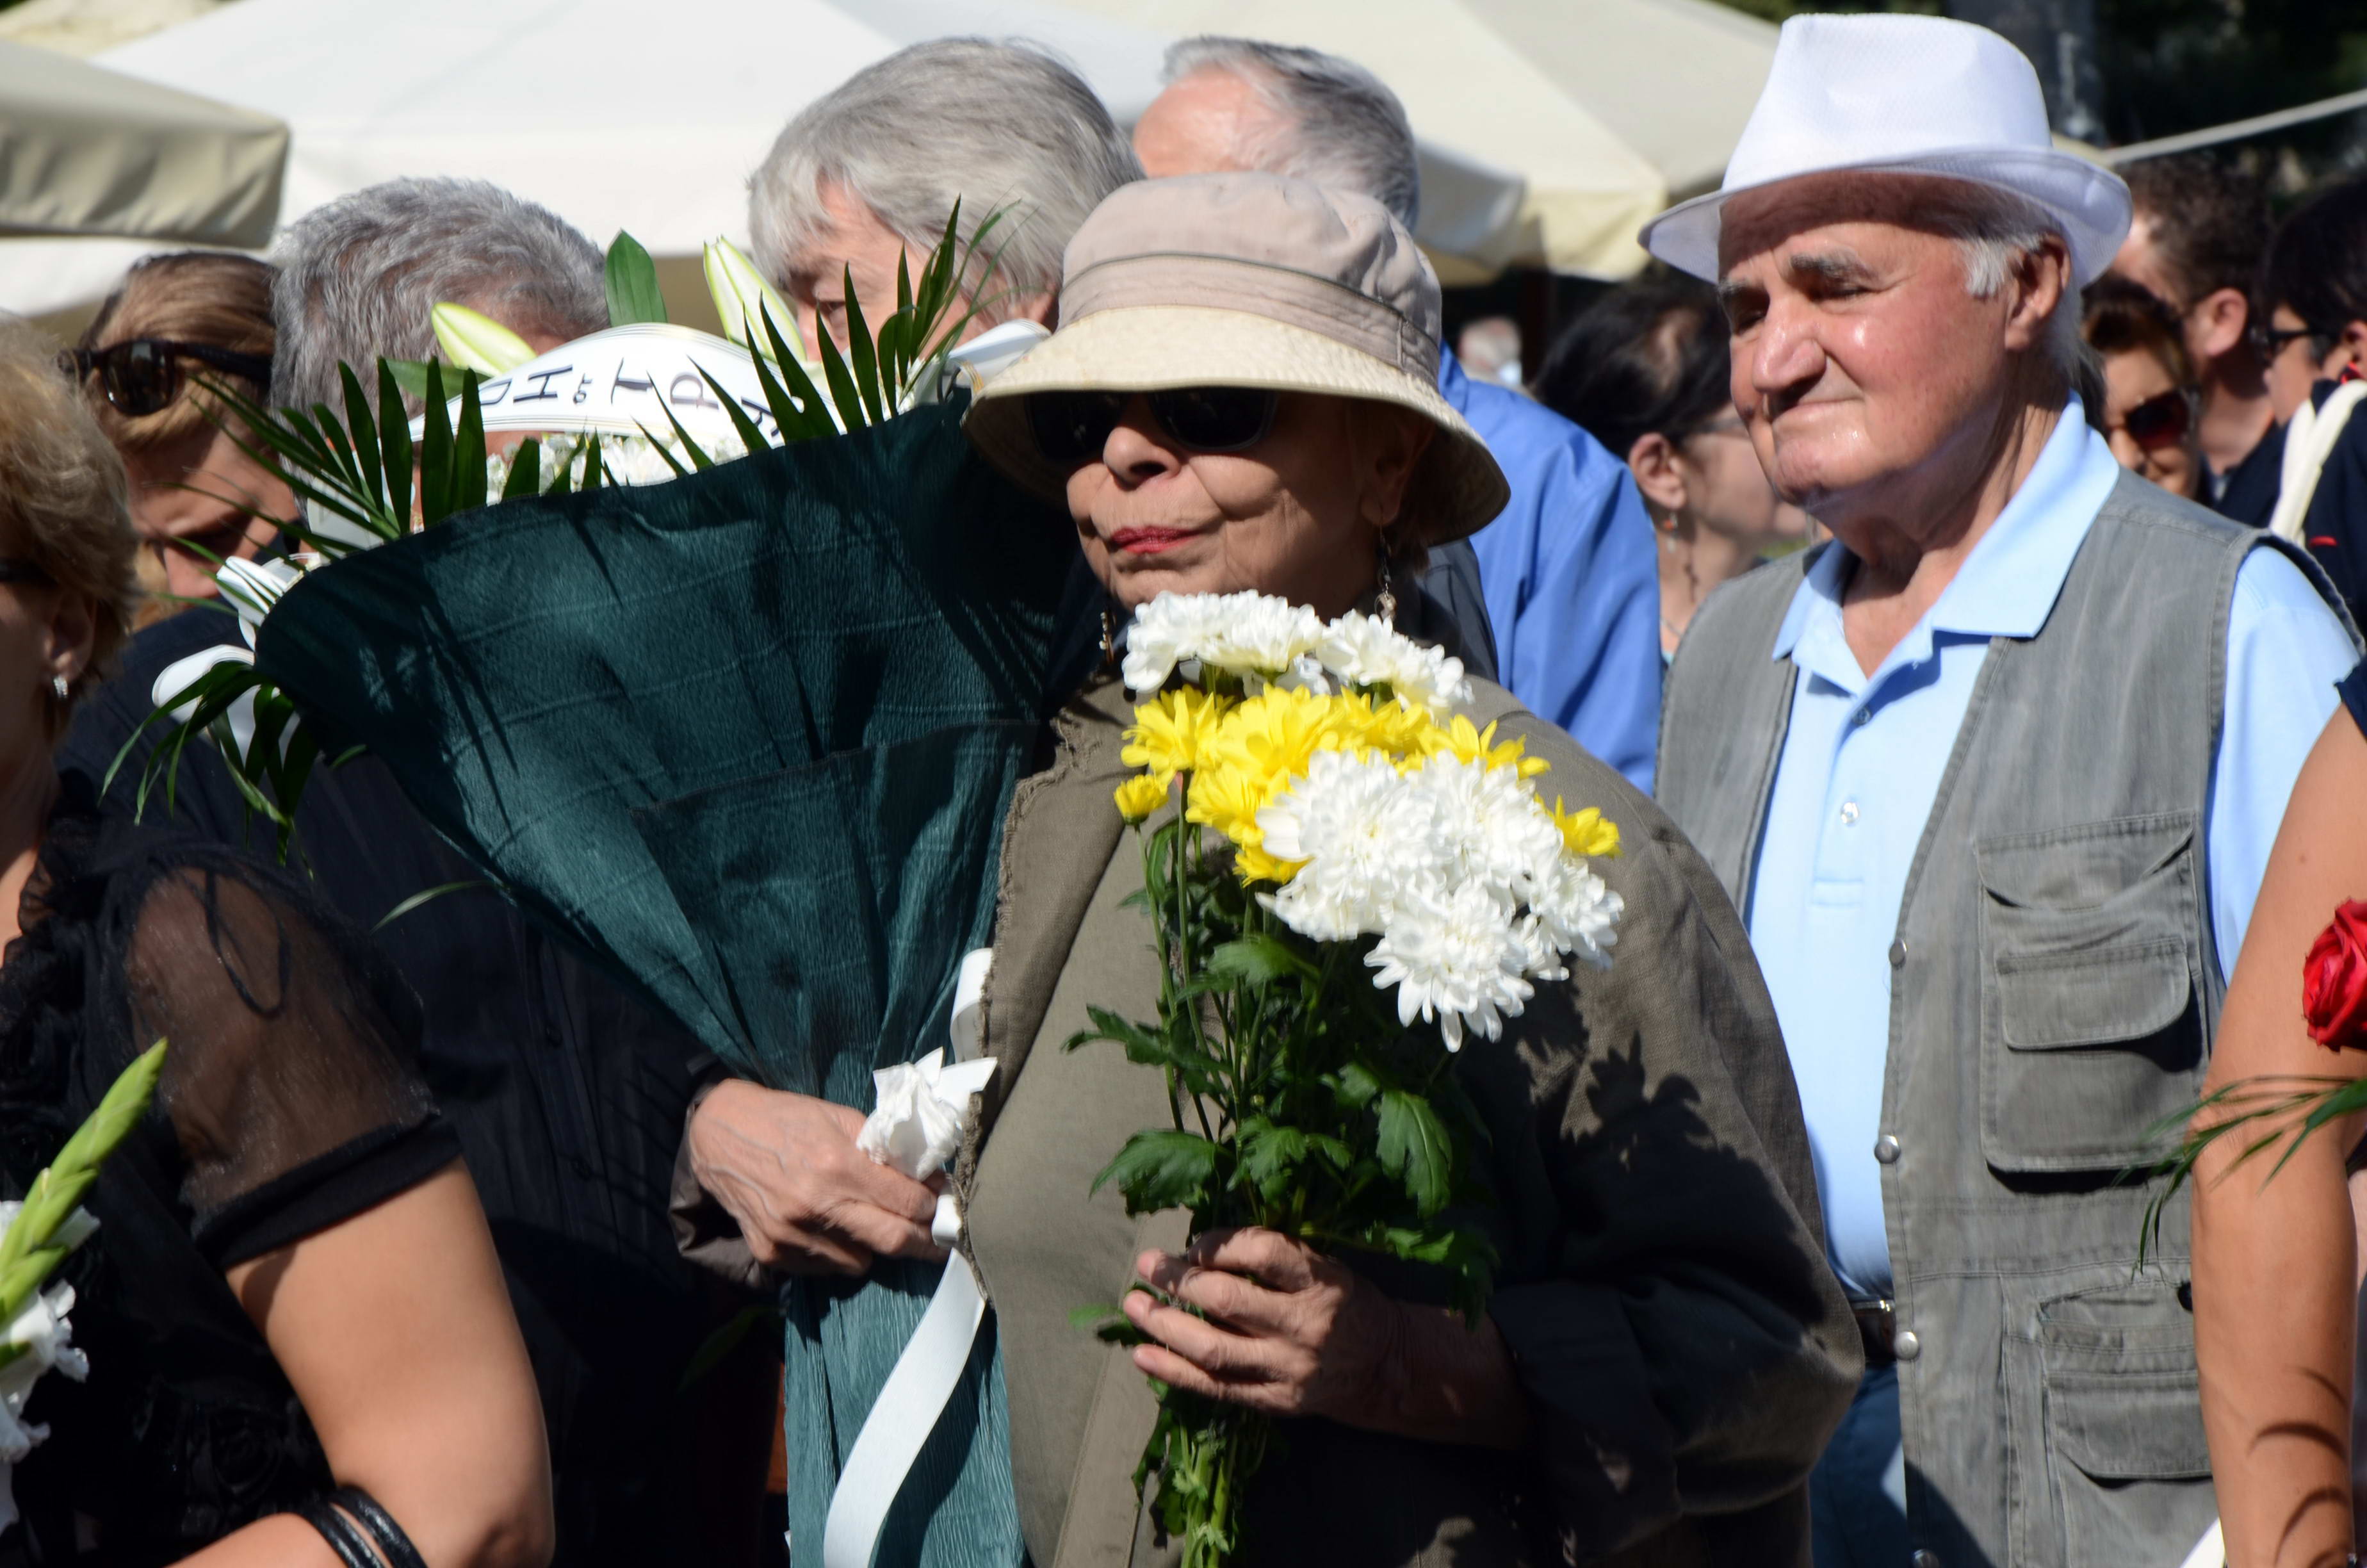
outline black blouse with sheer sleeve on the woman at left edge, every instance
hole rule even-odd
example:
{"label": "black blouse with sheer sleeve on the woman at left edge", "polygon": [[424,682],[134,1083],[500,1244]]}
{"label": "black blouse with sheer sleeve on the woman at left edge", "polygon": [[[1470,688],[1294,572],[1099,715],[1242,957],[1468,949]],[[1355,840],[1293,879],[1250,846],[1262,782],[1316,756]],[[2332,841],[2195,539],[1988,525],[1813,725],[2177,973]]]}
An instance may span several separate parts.
{"label": "black blouse with sheer sleeve on the woman at left edge", "polygon": [[[414,1068],[417,1000],[296,879],[99,817],[66,779],[0,959],[0,1196],[168,1040],[156,1108],[62,1270],[90,1381],[43,1379],[0,1563],[163,1563],[331,1485],[222,1272],[459,1158]],[[97,1523],[95,1554],[90,1530]],[[83,1559],[76,1554],[85,1551]]]}

